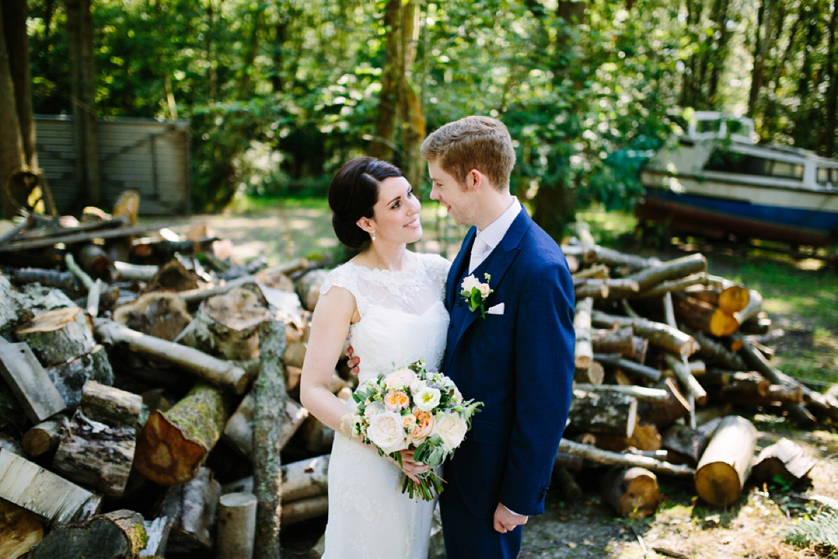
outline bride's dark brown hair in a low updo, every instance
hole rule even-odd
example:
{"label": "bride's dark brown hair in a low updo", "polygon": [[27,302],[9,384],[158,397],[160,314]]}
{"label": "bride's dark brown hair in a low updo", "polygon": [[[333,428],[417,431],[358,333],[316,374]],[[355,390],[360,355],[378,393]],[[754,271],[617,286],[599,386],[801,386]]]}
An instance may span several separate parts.
{"label": "bride's dark brown hair in a low updo", "polygon": [[396,165],[376,158],[354,158],[344,163],[328,187],[332,227],[340,242],[349,248],[360,248],[370,241],[370,234],[357,222],[373,216],[381,181],[402,176]]}

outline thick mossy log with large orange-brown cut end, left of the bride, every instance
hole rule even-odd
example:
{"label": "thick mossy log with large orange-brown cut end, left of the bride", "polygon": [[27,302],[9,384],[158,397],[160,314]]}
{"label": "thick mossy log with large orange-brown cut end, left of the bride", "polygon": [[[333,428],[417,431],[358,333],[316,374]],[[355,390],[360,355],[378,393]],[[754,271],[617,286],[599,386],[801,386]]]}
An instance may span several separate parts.
{"label": "thick mossy log with large orange-brown cut end, left of the bride", "polygon": [[152,411],[137,437],[134,468],[161,485],[193,479],[218,442],[229,403],[215,386],[199,382],[168,411]]}

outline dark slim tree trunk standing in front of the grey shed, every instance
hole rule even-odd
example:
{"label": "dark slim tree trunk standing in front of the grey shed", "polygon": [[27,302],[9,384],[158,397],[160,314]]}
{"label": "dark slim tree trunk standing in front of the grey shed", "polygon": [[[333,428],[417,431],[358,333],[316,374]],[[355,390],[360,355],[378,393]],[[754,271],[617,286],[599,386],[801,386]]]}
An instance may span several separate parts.
{"label": "dark slim tree trunk standing in front of the grey shed", "polygon": [[93,21],[91,0],[65,0],[67,8],[67,51],[70,55],[70,95],[73,101],[76,172],[81,191],[80,205],[101,207],[99,146],[96,132],[96,74],[93,70]]}

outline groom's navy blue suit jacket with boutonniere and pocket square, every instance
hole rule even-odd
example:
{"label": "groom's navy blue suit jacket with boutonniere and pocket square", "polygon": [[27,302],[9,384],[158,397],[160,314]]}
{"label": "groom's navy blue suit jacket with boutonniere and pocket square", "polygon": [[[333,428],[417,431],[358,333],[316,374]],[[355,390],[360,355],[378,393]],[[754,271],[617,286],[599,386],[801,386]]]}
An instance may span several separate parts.
{"label": "groom's navy blue suit jacket with boutonniere and pocket square", "polygon": [[446,463],[442,506],[457,491],[478,517],[490,518],[498,503],[541,514],[572,393],[573,283],[556,241],[521,210],[473,272],[480,282],[491,277],[485,308],[504,303],[502,315],[480,318],[460,295],[475,235],[472,227],[448,273],[442,371],[484,407]]}

